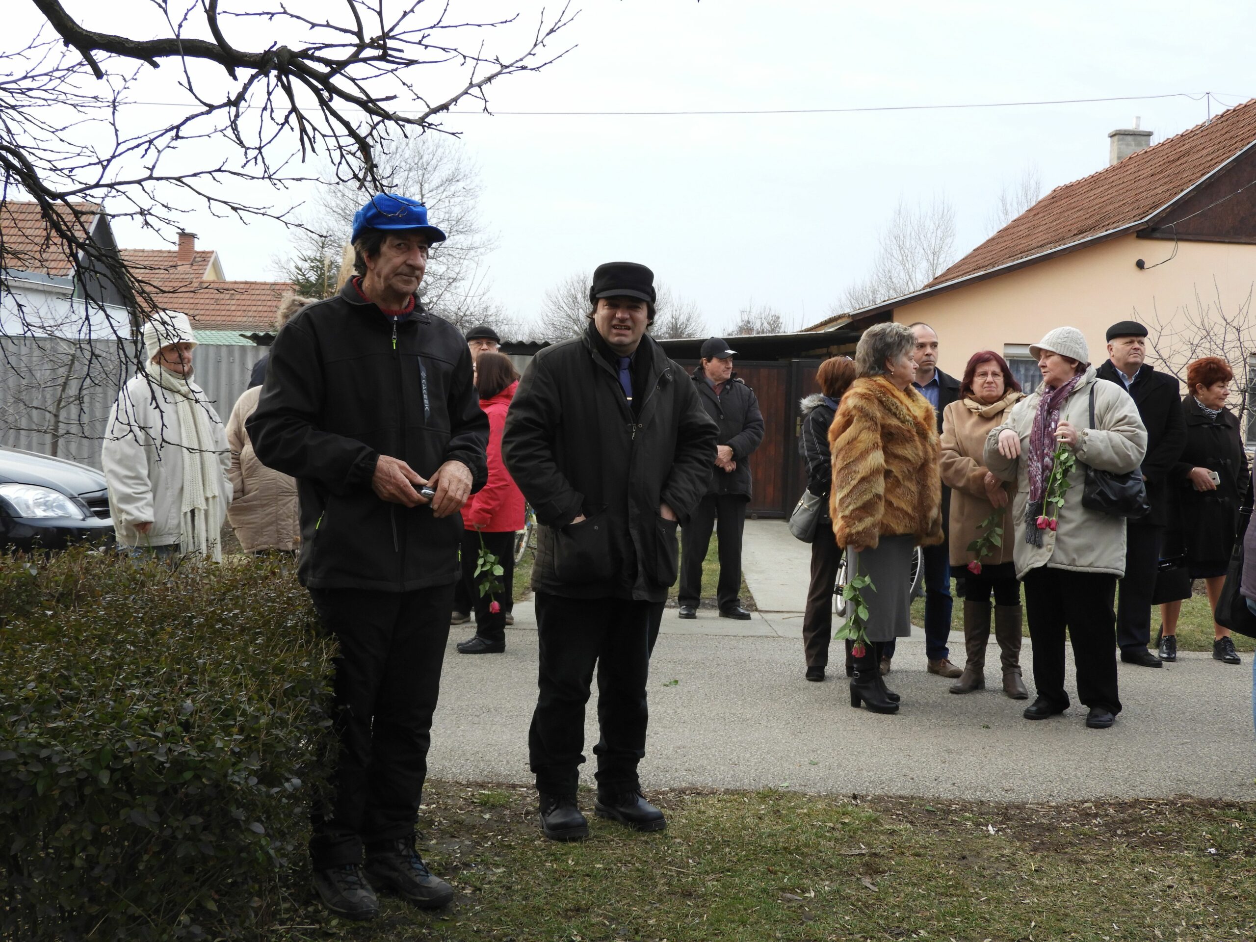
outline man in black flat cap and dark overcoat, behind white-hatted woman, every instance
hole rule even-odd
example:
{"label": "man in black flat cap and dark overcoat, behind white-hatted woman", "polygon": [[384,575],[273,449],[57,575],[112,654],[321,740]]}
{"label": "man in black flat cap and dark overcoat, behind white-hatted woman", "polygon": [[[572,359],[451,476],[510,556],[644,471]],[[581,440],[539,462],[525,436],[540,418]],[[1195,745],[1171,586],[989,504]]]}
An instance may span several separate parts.
{"label": "man in black flat cap and dark overcoat, behind white-hatted woman", "polygon": [[[1137,320],[1122,320],[1108,328],[1108,360],[1096,372],[1102,379],[1119,383],[1129,392],[1147,426],[1143,477],[1150,511],[1125,521],[1125,575],[1117,603],[1117,643],[1125,663],[1159,667],[1161,659],[1147,644],[1152,638],[1152,589],[1168,524],[1166,480],[1186,447],[1178,381],[1157,373],[1147,363],[1147,328]],[[1171,659],[1177,659],[1176,651]]]}

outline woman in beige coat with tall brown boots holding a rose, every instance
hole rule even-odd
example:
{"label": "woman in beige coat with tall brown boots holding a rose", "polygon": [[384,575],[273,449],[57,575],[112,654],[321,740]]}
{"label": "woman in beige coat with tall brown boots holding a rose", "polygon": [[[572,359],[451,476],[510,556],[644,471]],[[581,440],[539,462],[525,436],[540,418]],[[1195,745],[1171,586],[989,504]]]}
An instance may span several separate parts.
{"label": "woman in beige coat with tall brown boots holding a rose", "polygon": [[[1029,697],[1020,669],[1020,583],[1007,525],[1012,487],[995,477],[985,462],[986,436],[1022,398],[1007,362],[993,350],[981,350],[972,354],[963,371],[960,399],[942,413],[942,482],[951,487],[951,569],[968,570],[963,602],[967,662],[960,679],[951,685],[952,693],[971,693],[986,686],[992,593],[1004,693],[1012,700]],[[982,526],[992,517],[992,525]],[[968,549],[973,543],[977,550]]]}

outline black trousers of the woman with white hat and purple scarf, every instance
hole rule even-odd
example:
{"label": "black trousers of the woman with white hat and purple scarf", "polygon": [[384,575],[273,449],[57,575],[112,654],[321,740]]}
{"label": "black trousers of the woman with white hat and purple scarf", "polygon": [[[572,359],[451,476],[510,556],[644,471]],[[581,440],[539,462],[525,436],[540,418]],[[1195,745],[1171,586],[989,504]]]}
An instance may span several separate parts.
{"label": "black trousers of the woman with white hat and purple scarf", "polygon": [[1073,643],[1078,700],[1120,712],[1117,695],[1117,577],[1041,566],[1025,575],[1025,615],[1034,642],[1037,696],[1069,705],[1064,692],[1064,633]]}

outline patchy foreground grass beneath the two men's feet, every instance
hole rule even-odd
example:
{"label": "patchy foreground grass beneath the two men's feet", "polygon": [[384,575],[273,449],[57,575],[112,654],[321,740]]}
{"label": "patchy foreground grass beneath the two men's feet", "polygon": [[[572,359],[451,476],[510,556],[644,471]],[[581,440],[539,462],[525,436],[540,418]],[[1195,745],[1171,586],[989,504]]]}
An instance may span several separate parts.
{"label": "patchy foreground grass beneath the two men's feet", "polygon": [[[501,789],[502,786],[496,786]],[[541,838],[535,798],[430,784],[422,852],[445,912],[386,899],[368,926],[305,904],[286,939],[1235,939],[1256,936],[1256,806],[1007,805],[788,791],[663,793],[668,829],[590,818]],[[592,810],[592,795],[582,794]],[[298,894],[294,894],[298,898]]]}

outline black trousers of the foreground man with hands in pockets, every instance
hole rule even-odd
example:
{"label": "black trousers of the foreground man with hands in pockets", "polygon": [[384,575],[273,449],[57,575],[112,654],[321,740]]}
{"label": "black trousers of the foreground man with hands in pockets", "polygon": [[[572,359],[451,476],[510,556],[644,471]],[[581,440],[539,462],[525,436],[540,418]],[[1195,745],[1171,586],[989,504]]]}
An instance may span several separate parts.
{"label": "black trousers of the foreground man with hands in pockets", "polygon": [[539,696],[528,731],[536,790],[575,795],[584,762],[584,705],[598,671],[594,746],[599,789],[638,788],[637,764],[646,755],[646,681],[649,677],[652,615],[662,607],[625,599],[570,599],[538,592]]}

